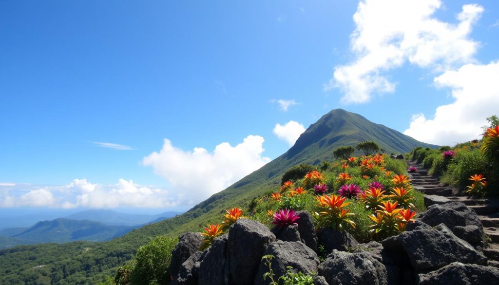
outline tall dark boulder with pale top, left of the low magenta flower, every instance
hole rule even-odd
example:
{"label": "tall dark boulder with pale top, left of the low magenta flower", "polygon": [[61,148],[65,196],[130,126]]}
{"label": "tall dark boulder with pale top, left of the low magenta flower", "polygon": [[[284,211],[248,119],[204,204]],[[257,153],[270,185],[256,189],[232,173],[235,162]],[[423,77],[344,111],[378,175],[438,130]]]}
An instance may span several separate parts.
{"label": "tall dark boulder with pale top, left of the low magenta flower", "polygon": [[274,241],[274,234],[259,222],[239,219],[231,226],[227,257],[229,271],[236,285],[253,284],[261,257]]}

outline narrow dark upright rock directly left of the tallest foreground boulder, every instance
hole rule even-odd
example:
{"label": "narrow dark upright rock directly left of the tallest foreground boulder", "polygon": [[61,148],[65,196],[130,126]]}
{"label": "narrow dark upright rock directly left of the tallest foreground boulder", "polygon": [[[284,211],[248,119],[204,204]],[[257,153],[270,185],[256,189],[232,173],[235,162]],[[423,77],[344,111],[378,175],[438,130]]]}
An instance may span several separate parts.
{"label": "narrow dark upright rock directly left of the tallest foreground boulder", "polygon": [[199,268],[199,285],[225,285],[229,281],[227,268],[227,241],[229,235],[216,238]]}

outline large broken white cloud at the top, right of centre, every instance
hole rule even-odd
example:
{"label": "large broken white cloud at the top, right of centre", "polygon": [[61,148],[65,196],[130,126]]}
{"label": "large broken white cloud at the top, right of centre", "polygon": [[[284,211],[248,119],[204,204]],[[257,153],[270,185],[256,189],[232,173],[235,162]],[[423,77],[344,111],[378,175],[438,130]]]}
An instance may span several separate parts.
{"label": "large broken white cloud at the top, right of centre", "polygon": [[355,59],[336,66],[324,90],[337,87],[344,93],[342,102],[364,103],[372,93],[393,92],[395,83],[384,72],[405,62],[433,71],[474,62],[479,43],[469,35],[483,7],[463,5],[458,23],[450,23],[434,16],[441,6],[440,0],[360,1],[351,34]]}

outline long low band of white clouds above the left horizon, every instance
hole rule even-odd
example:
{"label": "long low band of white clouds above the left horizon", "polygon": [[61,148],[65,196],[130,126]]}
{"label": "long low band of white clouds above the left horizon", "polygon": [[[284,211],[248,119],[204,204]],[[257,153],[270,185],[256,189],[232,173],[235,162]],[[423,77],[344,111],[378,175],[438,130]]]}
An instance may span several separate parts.
{"label": "long low band of white clouds above the left horizon", "polygon": [[0,191],[0,207],[164,208],[179,204],[177,195],[168,190],[145,187],[124,179],[115,185],[92,184],[86,179],[74,179],[63,186],[37,188],[32,185]]}

